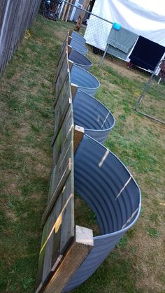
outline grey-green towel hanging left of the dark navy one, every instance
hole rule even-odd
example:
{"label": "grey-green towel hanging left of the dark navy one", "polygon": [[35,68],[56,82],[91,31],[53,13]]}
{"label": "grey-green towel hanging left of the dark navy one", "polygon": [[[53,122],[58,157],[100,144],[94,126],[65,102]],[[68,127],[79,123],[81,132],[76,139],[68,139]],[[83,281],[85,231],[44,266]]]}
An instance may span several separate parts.
{"label": "grey-green towel hanging left of the dark navy one", "polygon": [[137,38],[138,35],[128,29],[121,27],[120,30],[117,30],[112,27],[107,40],[107,52],[126,60]]}

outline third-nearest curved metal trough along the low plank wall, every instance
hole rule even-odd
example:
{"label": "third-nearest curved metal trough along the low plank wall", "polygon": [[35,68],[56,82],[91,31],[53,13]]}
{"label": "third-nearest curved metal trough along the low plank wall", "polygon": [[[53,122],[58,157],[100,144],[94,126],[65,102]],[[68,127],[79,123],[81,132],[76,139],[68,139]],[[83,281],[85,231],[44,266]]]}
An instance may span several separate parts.
{"label": "third-nearest curved metal trough along the low plank wall", "polygon": [[71,83],[78,85],[80,90],[94,96],[96,90],[99,89],[100,83],[91,73],[79,66],[73,64],[71,69]]}

